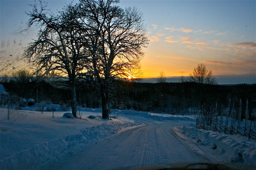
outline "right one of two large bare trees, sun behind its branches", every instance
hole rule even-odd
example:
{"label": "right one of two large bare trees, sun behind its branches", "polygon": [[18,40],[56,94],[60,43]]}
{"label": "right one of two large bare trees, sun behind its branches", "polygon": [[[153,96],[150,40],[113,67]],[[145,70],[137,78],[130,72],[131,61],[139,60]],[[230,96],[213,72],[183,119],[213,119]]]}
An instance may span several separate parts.
{"label": "right one of two large bare trees, sun behind its branches", "polygon": [[[118,0],[81,0],[85,32],[91,35],[90,73],[98,83],[102,117],[109,115],[109,91],[114,78],[135,77],[148,39],[143,15],[137,8],[122,9]],[[82,17],[81,17],[82,18]],[[136,76],[137,77],[137,76]]]}

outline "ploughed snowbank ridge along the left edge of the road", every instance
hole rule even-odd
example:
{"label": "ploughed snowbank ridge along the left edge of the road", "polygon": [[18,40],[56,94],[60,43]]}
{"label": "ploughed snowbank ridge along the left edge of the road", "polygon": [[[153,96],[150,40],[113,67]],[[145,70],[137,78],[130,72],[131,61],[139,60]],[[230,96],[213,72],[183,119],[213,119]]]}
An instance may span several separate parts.
{"label": "ploughed snowbank ridge along the left edge of the road", "polygon": [[87,128],[77,134],[39,143],[1,160],[1,169],[28,169],[28,166],[41,164],[47,160],[58,158],[58,156],[74,155],[76,152],[84,150],[88,145],[117,133],[122,128],[137,125],[141,125],[141,123],[111,121],[108,124],[103,123]]}

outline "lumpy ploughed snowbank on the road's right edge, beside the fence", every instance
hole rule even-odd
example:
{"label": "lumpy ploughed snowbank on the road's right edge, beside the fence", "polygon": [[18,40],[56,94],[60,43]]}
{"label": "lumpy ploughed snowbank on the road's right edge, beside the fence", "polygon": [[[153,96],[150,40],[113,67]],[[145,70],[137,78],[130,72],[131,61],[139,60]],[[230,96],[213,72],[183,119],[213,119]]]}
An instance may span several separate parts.
{"label": "lumpy ploughed snowbank on the road's right edge, beside the fence", "polygon": [[196,140],[200,145],[209,146],[214,150],[217,149],[217,151],[225,155],[230,162],[256,164],[255,142],[243,141],[222,133],[184,125],[176,126],[174,129]]}

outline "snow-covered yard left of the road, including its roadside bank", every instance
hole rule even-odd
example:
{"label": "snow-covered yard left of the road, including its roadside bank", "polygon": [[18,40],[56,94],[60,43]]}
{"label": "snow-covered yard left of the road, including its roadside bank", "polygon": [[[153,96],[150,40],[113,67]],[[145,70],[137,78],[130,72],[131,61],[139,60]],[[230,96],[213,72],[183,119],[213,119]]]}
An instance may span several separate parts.
{"label": "snow-covered yard left of the road, including its roadside bank", "polygon": [[[0,110],[0,169],[27,169],[67,154],[76,154],[126,127],[141,125],[131,120],[67,119],[65,112]],[[83,117],[92,112],[83,112]],[[100,113],[98,113],[100,114]]]}

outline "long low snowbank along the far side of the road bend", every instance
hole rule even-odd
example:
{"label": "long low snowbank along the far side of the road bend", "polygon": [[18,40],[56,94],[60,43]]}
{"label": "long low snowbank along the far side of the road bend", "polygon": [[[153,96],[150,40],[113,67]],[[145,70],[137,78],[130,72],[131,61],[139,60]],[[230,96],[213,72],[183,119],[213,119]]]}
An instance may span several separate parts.
{"label": "long low snowbank along the far side of the road bend", "polygon": [[115,112],[115,114],[124,114],[124,115],[133,115],[133,116],[141,116],[146,117],[149,119],[154,119],[157,121],[195,121],[195,119],[192,119],[190,117],[180,117],[180,116],[172,116],[172,115],[165,115],[162,116],[162,114],[151,114],[148,112],[142,112],[142,111],[135,111],[135,110],[121,110],[118,112]]}

